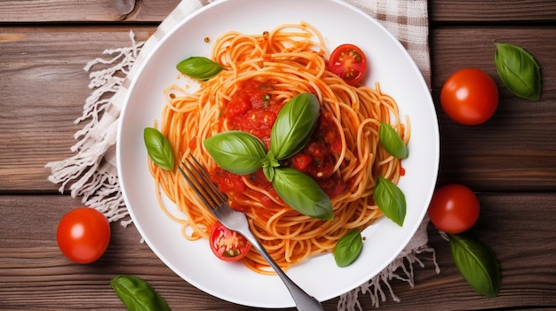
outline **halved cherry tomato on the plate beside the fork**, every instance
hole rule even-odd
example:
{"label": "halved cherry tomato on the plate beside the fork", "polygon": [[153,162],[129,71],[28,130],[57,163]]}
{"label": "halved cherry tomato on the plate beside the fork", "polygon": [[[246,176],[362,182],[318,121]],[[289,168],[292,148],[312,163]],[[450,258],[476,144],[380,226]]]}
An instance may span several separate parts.
{"label": "halved cherry tomato on the plate beside the fork", "polygon": [[234,230],[217,223],[210,229],[210,250],[218,259],[225,261],[241,260],[251,248],[249,241]]}

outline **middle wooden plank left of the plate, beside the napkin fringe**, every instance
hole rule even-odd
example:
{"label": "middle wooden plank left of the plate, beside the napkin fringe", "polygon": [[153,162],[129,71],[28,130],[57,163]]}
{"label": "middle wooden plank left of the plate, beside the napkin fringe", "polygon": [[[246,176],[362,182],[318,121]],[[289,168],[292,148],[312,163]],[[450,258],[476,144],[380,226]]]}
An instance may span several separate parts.
{"label": "middle wooden plank left of the plate, beside the napkin fringe", "polygon": [[[155,27],[132,27],[137,41]],[[0,28],[0,189],[50,190],[44,168],[73,155],[75,124],[92,89],[83,70],[105,49],[131,45],[129,27]],[[86,35],[83,35],[86,34]],[[102,67],[93,67],[99,70]]]}

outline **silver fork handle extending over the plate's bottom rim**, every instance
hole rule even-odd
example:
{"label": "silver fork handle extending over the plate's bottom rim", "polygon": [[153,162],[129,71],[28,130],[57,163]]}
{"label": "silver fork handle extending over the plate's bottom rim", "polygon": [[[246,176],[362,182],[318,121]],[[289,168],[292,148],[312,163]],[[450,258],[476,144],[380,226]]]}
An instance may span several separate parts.
{"label": "silver fork handle extending over the plate's bottom rim", "polygon": [[266,252],[265,247],[263,247],[263,245],[258,242],[257,237],[254,237],[250,231],[242,232],[242,235],[250,242],[251,245],[253,245],[253,247],[257,249],[258,253],[260,253],[265,258],[270,266],[274,268],[276,274],[280,276],[282,282],[286,285],[288,291],[290,291],[291,298],[293,298],[293,300],[295,301],[299,311],[324,310],[319,300],[306,293],[303,289],[301,289],[301,287],[298,286],[298,284],[295,284],[290,279],[290,276],[287,276],[282,271],[282,268],[280,268],[276,261],[274,261],[274,259]]}

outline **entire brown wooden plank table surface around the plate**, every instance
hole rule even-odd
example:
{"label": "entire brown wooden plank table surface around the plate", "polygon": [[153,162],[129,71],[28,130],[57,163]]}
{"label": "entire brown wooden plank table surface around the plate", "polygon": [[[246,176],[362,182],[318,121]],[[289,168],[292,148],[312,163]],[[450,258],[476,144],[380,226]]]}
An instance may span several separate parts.
{"label": "entire brown wooden plank table surface around the plate", "polygon": [[[556,2],[430,0],[433,99],[441,127],[439,184],[463,183],[481,200],[473,233],[500,261],[502,288],[488,299],[459,276],[448,243],[429,227],[441,273],[425,260],[415,288],[393,281],[383,309],[556,308]],[[178,0],[4,0],[0,3],[0,309],[123,310],[108,285],[141,276],[174,310],[244,310],[176,276],[139,243],[132,226],[112,224],[107,253],[91,265],[67,260],[58,222],[79,199],[58,192],[44,168],[72,155],[74,124],[89,96],[87,61],[106,48],[145,40]],[[537,102],[513,96],[496,74],[493,42],[530,51],[542,67]],[[467,127],[441,111],[449,74],[475,66],[490,74],[500,105],[487,123]],[[363,307],[373,307],[361,299]],[[324,303],[336,309],[338,299]]]}

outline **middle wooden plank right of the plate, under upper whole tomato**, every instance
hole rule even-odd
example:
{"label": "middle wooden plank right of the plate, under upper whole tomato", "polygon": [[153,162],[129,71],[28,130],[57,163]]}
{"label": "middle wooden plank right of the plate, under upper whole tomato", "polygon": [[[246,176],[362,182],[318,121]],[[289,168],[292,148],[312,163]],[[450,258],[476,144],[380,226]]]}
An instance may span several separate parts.
{"label": "middle wooden plank right of the plate, under upper whole tomato", "polygon": [[[535,56],[543,79],[539,101],[516,97],[504,87],[496,72],[495,41],[518,44]],[[554,28],[439,27],[431,42],[433,100],[441,128],[439,183],[465,183],[480,191],[556,189]],[[440,105],[442,83],[468,66],[487,72],[500,93],[495,115],[479,126],[449,120]]]}

